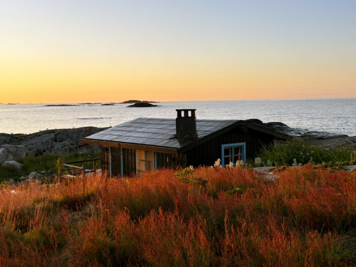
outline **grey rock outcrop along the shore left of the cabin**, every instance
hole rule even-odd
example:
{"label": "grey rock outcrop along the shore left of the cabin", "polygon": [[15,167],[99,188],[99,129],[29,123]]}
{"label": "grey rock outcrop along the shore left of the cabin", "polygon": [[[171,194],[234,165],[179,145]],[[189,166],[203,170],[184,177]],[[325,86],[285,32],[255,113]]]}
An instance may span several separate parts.
{"label": "grey rock outcrop along the shore left of the cabin", "polygon": [[[46,130],[33,134],[0,133],[0,164],[5,161],[35,157],[43,154],[65,155],[78,150],[81,138],[107,128],[82,127],[76,129]],[[98,150],[95,145],[86,145],[84,150]]]}

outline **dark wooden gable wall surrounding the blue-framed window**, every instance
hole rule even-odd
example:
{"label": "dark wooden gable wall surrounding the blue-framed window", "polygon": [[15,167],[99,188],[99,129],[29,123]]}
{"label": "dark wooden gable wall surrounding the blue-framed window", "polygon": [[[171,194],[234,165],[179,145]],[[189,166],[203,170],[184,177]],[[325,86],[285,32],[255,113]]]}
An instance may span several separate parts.
{"label": "dark wooden gable wall surrounding the blue-framed window", "polygon": [[221,159],[222,144],[242,142],[246,142],[246,160],[254,159],[262,146],[270,144],[274,139],[276,136],[250,128],[235,128],[187,151],[187,164],[212,166],[218,158]]}

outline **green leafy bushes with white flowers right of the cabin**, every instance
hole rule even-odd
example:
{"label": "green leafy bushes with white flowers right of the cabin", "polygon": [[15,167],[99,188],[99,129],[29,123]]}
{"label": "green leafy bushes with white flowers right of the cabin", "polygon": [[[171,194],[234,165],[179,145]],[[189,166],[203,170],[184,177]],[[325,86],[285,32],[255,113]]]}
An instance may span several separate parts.
{"label": "green leafy bushes with white flowers right of the cabin", "polygon": [[293,140],[263,147],[254,165],[291,166],[300,163],[313,163],[332,166],[356,164],[356,155],[352,150],[352,147],[329,148]]}

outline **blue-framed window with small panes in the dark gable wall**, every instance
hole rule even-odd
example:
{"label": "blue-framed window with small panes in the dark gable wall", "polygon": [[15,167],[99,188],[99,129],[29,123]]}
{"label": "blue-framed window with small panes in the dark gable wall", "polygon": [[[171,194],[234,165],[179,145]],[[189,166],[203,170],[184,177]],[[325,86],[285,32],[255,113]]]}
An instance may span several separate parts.
{"label": "blue-framed window with small panes in the dark gable wall", "polygon": [[221,164],[223,167],[230,161],[235,164],[238,160],[243,160],[246,163],[246,142],[221,145]]}

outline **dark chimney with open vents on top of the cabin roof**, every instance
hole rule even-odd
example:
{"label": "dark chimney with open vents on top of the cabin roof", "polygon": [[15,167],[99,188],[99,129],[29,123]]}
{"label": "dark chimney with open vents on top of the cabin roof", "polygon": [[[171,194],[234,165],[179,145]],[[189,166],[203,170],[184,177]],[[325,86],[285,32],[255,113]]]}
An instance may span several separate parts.
{"label": "dark chimney with open vents on top of the cabin roof", "polygon": [[[196,133],[196,109],[176,109],[175,131],[178,138],[193,137]],[[183,111],[183,116],[182,116]],[[188,112],[190,111],[190,116]]]}

